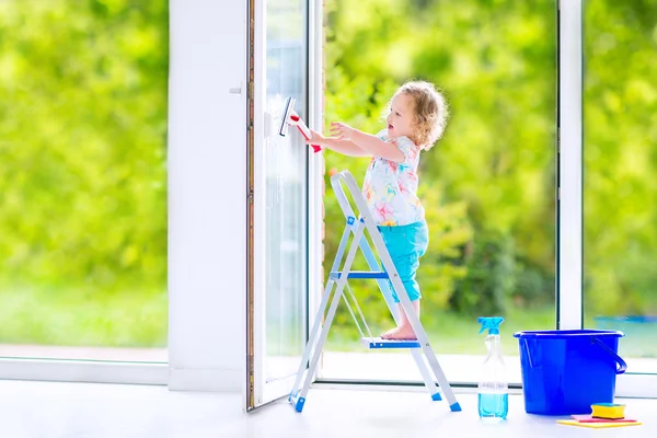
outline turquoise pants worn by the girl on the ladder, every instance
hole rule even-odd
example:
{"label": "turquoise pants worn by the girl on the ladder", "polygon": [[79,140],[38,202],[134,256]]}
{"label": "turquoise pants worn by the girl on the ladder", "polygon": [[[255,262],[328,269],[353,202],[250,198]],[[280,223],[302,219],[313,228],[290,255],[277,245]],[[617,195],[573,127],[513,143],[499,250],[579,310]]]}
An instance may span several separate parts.
{"label": "turquoise pants worn by the girl on the ladder", "polygon": [[[411,298],[411,301],[418,300],[422,295],[419,293],[419,285],[415,281],[415,273],[419,267],[419,257],[425,255],[429,245],[427,222],[422,221],[399,227],[379,226],[378,228],[408,298]],[[390,281],[390,288],[392,289],[394,302],[400,302],[392,281]]]}

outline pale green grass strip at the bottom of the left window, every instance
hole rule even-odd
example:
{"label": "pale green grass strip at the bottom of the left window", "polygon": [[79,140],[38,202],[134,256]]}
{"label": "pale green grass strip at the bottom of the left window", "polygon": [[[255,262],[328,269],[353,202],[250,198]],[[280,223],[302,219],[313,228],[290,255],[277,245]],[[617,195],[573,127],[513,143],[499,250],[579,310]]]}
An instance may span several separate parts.
{"label": "pale green grass strip at the bottom of the left window", "polygon": [[0,344],[163,347],[168,300],[161,288],[107,292],[49,284],[0,285]]}

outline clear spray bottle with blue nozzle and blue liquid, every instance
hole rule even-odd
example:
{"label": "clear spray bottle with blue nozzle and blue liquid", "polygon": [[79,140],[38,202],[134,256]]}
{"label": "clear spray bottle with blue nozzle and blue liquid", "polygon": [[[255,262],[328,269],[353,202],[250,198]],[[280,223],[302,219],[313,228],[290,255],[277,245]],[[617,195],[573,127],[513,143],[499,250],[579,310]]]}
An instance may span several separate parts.
{"label": "clear spray bottle with blue nozzle and blue liquid", "polygon": [[506,419],[509,411],[509,387],[506,380],[499,339],[499,324],[503,321],[504,318],[479,319],[479,323],[482,324],[480,334],[488,330],[488,336],[486,336],[488,354],[479,383],[479,412],[481,418],[495,422]]}

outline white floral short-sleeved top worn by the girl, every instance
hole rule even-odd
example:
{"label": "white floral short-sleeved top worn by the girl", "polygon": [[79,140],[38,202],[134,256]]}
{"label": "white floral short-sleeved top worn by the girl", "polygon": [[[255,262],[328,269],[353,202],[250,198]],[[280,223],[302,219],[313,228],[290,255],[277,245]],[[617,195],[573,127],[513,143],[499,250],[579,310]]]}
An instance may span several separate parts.
{"label": "white floral short-sleeved top worn by the girl", "polygon": [[425,212],[417,197],[419,147],[408,137],[389,140],[385,129],[377,137],[396,146],[405,160],[397,163],[373,157],[367,168],[362,196],[374,221],[380,226],[405,226],[423,221]]}

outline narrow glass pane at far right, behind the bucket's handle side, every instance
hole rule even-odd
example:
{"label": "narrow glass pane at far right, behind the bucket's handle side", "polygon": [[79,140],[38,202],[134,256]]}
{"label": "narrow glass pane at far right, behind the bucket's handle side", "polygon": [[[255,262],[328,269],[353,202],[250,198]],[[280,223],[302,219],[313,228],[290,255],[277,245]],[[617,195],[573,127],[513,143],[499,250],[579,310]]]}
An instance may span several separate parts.
{"label": "narrow glass pane at far right, behind the bucket's handle side", "polygon": [[623,331],[629,372],[657,372],[655,3],[585,3],[585,323]]}

